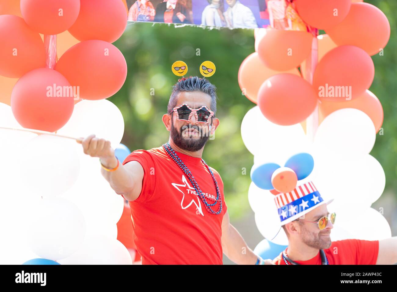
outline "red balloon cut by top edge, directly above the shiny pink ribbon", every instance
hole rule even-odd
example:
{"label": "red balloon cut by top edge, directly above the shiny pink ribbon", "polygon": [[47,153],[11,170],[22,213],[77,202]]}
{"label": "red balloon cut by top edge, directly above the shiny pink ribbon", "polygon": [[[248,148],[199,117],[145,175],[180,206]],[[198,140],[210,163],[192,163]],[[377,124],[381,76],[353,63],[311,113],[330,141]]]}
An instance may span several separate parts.
{"label": "red balloon cut by top edge, directly above the shiny pink ribbon", "polygon": [[80,0],[21,0],[23,20],[38,33],[57,35],[76,21]]}

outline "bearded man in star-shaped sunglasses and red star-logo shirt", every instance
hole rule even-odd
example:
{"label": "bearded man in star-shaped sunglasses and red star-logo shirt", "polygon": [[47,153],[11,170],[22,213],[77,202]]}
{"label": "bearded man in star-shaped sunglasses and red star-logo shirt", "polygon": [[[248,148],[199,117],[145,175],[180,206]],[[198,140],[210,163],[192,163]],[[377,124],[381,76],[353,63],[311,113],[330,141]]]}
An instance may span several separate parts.
{"label": "bearded man in star-shaped sunglasses and red star-logo shirt", "polygon": [[81,142],[85,154],[100,158],[113,190],[129,201],[144,265],[221,265],[223,253],[237,264],[272,264],[255,255],[230,224],[222,178],[202,159],[219,126],[216,99],[207,79],[179,79],[162,117],[169,141],[133,151],[122,165],[110,141],[90,135]]}

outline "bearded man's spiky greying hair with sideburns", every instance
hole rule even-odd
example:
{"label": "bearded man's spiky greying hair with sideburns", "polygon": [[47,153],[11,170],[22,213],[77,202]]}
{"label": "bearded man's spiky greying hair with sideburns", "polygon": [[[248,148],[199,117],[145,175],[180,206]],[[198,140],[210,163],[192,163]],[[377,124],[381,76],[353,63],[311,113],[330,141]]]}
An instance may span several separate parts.
{"label": "bearded man's spiky greying hair with sideburns", "polygon": [[189,78],[182,77],[178,80],[178,82],[173,86],[172,93],[170,96],[170,101],[168,102],[167,112],[171,114],[173,108],[177,106],[177,98],[178,94],[182,91],[201,91],[203,93],[208,94],[211,97],[211,108],[214,112],[214,116],[216,114],[216,87],[210,81],[205,78],[199,78],[197,76],[190,76]]}

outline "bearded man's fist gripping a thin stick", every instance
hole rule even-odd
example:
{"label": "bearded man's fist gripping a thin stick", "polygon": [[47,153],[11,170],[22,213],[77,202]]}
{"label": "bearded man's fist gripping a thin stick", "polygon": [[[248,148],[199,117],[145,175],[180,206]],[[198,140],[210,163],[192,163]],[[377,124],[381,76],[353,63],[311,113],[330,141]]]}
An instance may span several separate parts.
{"label": "bearded man's fist gripping a thin stick", "polygon": [[105,167],[115,168],[117,166],[117,158],[114,155],[113,148],[110,146],[110,141],[97,138],[92,134],[85,138],[80,138],[76,142],[83,145],[85,154],[91,157],[99,157]]}

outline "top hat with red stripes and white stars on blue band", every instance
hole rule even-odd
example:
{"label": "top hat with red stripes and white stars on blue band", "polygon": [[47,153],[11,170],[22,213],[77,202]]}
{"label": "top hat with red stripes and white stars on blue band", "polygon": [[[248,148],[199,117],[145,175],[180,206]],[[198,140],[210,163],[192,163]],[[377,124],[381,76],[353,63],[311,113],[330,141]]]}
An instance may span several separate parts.
{"label": "top hat with red stripes and white stars on blue band", "polygon": [[325,201],[311,181],[296,186],[295,189],[287,193],[279,193],[276,190],[270,192],[275,195],[274,201],[281,225],[292,222],[318,206],[328,205],[333,201],[333,199]]}

